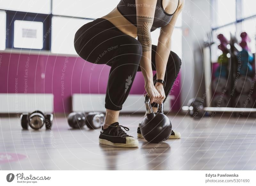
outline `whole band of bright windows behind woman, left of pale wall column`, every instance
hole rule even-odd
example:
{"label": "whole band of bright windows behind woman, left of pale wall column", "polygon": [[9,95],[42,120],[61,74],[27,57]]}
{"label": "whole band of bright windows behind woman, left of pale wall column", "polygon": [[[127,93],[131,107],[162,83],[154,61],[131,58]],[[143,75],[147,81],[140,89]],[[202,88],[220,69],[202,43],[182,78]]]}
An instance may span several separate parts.
{"label": "whole band of bright windows behind woman, left of pale wall column", "polygon": [[[51,50],[52,53],[76,55],[76,31],[92,19],[108,14],[119,2],[120,0],[0,0],[0,49],[43,49]],[[181,25],[180,15],[172,36],[172,50],[180,57]],[[159,33],[160,29],[152,33],[155,45]]]}

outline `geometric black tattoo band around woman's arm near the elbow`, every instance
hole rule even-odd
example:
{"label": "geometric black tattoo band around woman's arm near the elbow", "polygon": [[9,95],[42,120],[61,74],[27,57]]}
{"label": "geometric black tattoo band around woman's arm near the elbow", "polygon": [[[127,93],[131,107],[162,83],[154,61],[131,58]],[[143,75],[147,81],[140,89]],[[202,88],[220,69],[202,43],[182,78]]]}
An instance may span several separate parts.
{"label": "geometric black tattoo band around woman's arm near the elbow", "polygon": [[150,29],[153,25],[154,17],[137,16],[137,35],[143,52],[151,51],[152,41]]}

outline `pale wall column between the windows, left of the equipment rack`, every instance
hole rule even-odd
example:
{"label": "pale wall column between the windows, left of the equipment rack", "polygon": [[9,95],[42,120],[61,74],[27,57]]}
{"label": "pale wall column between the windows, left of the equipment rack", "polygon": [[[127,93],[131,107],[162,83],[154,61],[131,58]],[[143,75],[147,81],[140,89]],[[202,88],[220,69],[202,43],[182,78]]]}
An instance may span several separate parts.
{"label": "pale wall column between the windows, left of the equipment rack", "polygon": [[206,33],[211,31],[210,1],[186,0],[182,12],[182,105],[193,97],[202,97],[205,91],[202,47]]}

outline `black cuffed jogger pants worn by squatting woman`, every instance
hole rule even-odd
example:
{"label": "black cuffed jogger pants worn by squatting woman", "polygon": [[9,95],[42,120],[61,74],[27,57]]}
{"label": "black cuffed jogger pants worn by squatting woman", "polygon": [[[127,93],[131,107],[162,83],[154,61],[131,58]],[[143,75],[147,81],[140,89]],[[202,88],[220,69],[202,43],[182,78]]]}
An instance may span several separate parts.
{"label": "black cuffed jogger pants worn by squatting woman", "polygon": [[[132,87],[136,72],[141,71],[142,47],[140,42],[118,30],[110,21],[99,18],[78,29],[74,45],[77,54],[84,60],[111,66],[105,108],[121,110]],[[156,45],[152,45],[153,71],[156,70],[155,56]],[[171,51],[164,77],[166,97],[180,71],[180,65],[179,56]],[[156,75],[154,79],[156,79]],[[157,104],[153,103],[152,106],[157,107]]]}

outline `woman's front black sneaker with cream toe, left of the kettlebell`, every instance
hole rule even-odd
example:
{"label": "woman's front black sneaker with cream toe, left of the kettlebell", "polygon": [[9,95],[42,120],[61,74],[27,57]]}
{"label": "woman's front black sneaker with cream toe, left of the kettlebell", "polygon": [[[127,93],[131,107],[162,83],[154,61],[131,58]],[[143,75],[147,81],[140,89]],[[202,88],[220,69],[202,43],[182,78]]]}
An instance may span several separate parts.
{"label": "woman's front black sneaker with cream toe, left of the kettlebell", "polygon": [[129,128],[119,125],[118,122],[109,125],[107,129],[101,127],[99,143],[101,145],[117,146],[117,147],[138,147],[137,139],[126,134],[124,130],[129,131]]}

